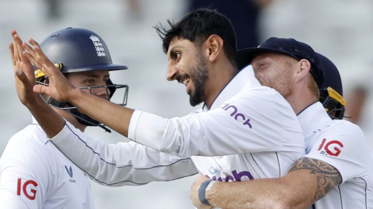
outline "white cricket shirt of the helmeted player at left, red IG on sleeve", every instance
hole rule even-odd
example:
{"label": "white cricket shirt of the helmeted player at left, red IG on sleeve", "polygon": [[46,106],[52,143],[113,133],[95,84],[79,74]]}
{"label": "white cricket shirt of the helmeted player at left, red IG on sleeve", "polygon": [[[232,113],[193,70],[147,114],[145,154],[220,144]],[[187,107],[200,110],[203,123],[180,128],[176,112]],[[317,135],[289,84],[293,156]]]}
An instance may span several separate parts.
{"label": "white cricket shirt of the helmeted player at left, red IG on sleeve", "polygon": [[12,136],[0,158],[0,208],[94,208],[88,178],[34,119]]}

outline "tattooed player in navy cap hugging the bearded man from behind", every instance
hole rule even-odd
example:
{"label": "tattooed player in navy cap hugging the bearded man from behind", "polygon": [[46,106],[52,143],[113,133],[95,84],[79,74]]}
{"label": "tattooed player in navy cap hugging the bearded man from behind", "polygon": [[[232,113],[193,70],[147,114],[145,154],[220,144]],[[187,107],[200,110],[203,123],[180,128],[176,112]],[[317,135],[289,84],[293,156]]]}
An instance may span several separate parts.
{"label": "tattooed player in navy cap hugging the bearded man from behind", "polygon": [[293,106],[305,133],[306,155],[282,178],[221,184],[199,177],[191,192],[198,209],[211,208],[210,204],[235,209],[373,208],[373,158],[361,129],[342,120],[346,101],[338,69],[318,54],[325,74],[322,103],[318,102],[309,73],[312,58],[300,59],[297,53],[304,51],[299,45],[293,39],[270,38],[239,55],[243,63],[253,64],[263,85],[279,90]]}

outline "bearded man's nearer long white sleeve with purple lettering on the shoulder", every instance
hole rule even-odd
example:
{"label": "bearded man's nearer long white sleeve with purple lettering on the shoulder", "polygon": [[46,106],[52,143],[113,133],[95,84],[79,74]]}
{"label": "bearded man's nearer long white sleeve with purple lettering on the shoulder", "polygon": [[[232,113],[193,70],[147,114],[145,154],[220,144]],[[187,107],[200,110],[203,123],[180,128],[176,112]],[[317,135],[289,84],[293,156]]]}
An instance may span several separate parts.
{"label": "bearded man's nearer long white sleeve with purple lettering on the shoulder", "polygon": [[[131,123],[130,139],[182,157],[288,151],[284,143],[289,138],[299,142],[290,149],[305,150],[295,113],[274,90],[247,90],[219,108],[181,118],[135,111]],[[285,131],[287,126],[292,127]]]}

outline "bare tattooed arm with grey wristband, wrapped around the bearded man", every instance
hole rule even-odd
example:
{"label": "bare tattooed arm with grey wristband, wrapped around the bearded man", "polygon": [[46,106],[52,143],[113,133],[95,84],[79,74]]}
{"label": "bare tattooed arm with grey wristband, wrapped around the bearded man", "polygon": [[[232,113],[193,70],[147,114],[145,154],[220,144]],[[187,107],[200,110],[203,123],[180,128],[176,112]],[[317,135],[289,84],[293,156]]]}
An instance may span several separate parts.
{"label": "bare tattooed arm with grey wristband, wrapped around the bearded man", "polygon": [[[199,177],[191,188],[190,196],[197,208],[203,208],[198,201],[202,180]],[[336,168],[304,157],[292,165],[285,177],[216,182],[205,197],[211,205],[224,209],[305,209],[341,182]]]}

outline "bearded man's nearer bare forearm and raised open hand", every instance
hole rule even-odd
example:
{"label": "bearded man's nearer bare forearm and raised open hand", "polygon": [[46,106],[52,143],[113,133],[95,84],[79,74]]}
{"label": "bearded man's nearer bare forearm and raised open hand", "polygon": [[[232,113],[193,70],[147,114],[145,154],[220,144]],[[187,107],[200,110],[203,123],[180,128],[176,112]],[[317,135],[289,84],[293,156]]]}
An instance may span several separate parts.
{"label": "bearded man's nearer bare forearm and raised open hand", "polygon": [[[113,104],[73,87],[60,70],[44,55],[39,44],[33,39],[30,39],[29,42],[34,48],[23,43],[23,46],[28,51],[23,52],[23,55],[31,60],[38,68],[42,69],[50,79],[49,86],[35,85],[35,92],[46,93],[58,101],[68,101],[77,106],[80,112],[101,121],[122,135],[128,136],[128,127],[134,111],[133,109]],[[53,137],[57,133],[54,131],[47,132],[49,137]]]}

